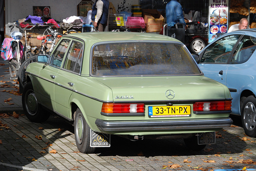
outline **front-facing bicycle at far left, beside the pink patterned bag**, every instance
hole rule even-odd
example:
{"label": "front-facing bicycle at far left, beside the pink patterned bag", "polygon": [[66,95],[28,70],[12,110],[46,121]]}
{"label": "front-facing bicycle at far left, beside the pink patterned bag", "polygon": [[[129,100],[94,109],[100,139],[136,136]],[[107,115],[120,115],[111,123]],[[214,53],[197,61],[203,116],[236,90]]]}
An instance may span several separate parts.
{"label": "front-facing bicycle at far left, beside the pink patterned bag", "polygon": [[[32,52],[30,52],[30,46],[28,46],[27,43],[27,39],[26,39],[26,30],[32,30],[33,28],[35,28],[37,26],[34,25],[31,28],[28,28],[28,26],[26,26],[25,28],[21,28],[17,22],[14,22],[14,24],[11,24],[9,26],[12,27],[12,29],[14,27],[19,29],[19,32],[14,31],[11,32],[10,36],[13,38],[14,41],[12,41],[12,59],[9,60],[9,72],[10,72],[10,80],[17,80],[18,76],[18,70],[20,68],[20,65],[22,64],[22,62],[24,62],[27,58],[30,58],[31,56],[33,56]],[[12,31],[11,29],[11,31]],[[23,46],[22,42],[20,42],[20,40],[22,39],[22,36],[25,36],[25,44]]]}

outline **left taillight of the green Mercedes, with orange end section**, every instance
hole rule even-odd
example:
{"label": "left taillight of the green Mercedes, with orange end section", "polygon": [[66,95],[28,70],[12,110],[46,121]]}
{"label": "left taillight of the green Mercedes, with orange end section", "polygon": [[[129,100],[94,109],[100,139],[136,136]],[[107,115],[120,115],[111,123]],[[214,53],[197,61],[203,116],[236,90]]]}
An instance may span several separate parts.
{"label": "left taillight of the green Mercedes, with orange end section", "polygon": [[103,103],[101,111],[103,113],[144,113],[143,103]]}

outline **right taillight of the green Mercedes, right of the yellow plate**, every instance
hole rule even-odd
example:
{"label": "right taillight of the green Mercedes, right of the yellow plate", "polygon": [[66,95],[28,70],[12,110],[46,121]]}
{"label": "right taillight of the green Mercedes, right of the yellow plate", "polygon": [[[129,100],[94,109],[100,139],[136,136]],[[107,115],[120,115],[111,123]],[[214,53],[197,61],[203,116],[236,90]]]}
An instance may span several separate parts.
{"label": "right taillight of the green Mercedes, right of the yellow plate", "polygon": [[224,111],[231,110],[230,101],[208,101],[208,102],[195,102],[193,104],[194,111]]}

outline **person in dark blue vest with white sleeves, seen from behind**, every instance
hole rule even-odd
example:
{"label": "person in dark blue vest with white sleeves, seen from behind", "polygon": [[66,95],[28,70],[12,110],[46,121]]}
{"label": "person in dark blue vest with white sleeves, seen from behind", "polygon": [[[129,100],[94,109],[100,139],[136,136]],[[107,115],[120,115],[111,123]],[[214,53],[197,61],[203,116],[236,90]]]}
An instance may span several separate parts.
{"label": "person in dark blue vest with white sleeves, seen from behind", "polygon": [[99,32],[104,32],[108,24],[108,0],[96,0],[92,6],[92,24]]}

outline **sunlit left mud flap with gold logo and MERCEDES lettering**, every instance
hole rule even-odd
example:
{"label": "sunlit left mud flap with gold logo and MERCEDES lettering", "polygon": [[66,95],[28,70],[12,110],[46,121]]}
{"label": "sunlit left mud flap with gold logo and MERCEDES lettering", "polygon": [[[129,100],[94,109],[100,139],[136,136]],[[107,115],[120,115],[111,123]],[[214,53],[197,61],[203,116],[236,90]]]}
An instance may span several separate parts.
{"label": "sunlit left mud flap with gold logo and MERCEDES lettering", "polygon": [[90,132],[90,147],[110,147],[110,134]]}

